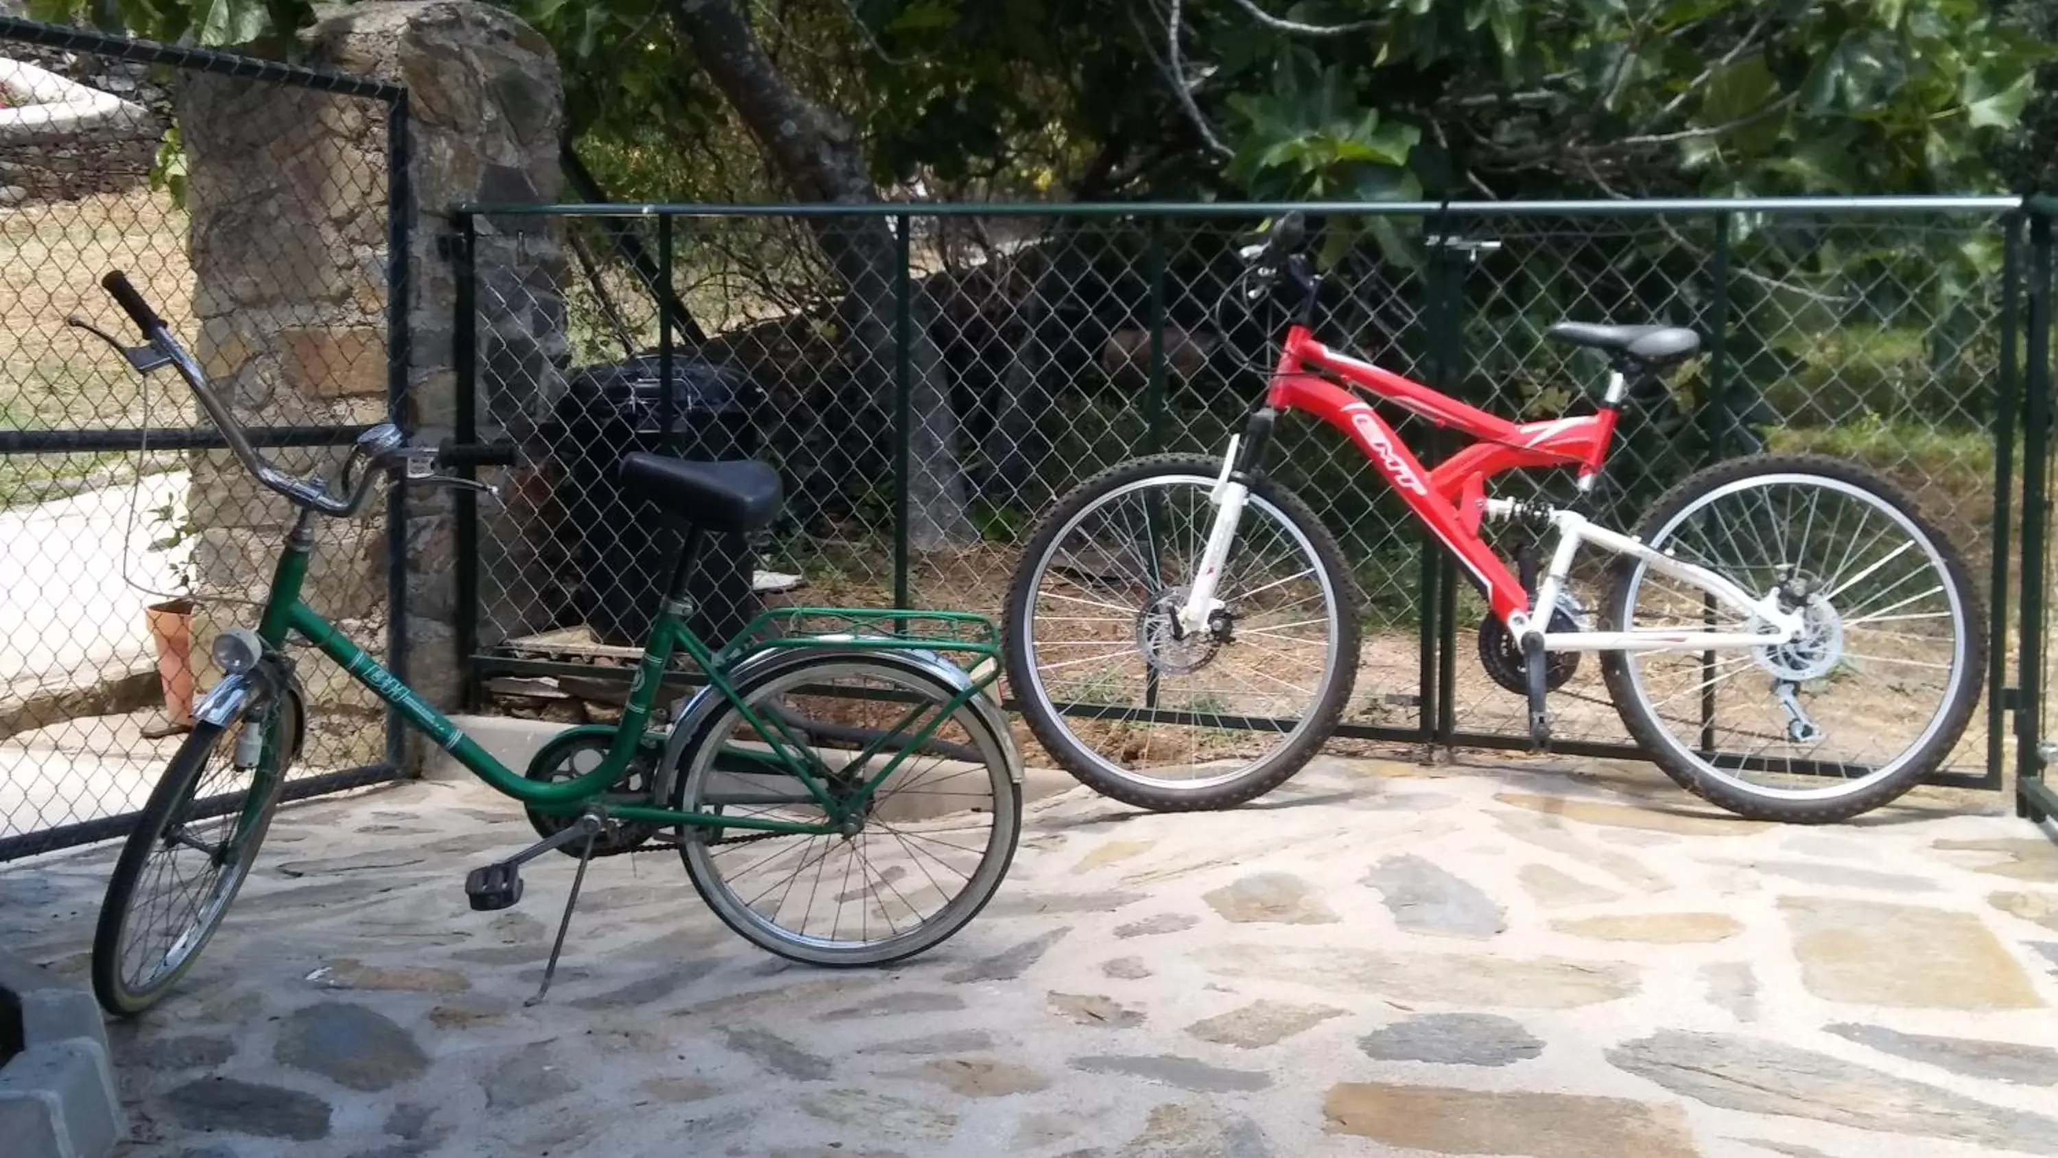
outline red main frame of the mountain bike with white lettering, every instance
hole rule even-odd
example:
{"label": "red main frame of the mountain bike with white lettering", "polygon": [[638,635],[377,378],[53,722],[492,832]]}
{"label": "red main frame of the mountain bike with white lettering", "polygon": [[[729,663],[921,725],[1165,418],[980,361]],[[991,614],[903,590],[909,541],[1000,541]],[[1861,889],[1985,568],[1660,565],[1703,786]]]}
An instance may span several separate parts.
{"label": "red main frame of the mountain bike with white lettering", "polygon": [[[1393,428],[1358,395],[1309,372],[1327,370],[1364,391],[1418,413],[1436,426],[1457,428],[1476,438],[1434,471],[1424,469]],[[1381,370],[1329,350],[1294,323],[1280,348],[1278,368],[1266,391],[1272,409],[1301,409],[1327,422],[1356,442],[1379,467],[1395,494],[1424,524],[1457,555],[1486,588],[1494,615],[1502,621],[1527,615],[1529,592],[1509,572],[1500,555],[1480,539],[1486,516],[1486,479],[1529,467],[1576,467],[1583,483],[1599,473],[1607,444],[1616,434],[1616,407],[1599,413],[1556,418],[1550,422],[1509,422],[1436,393],[1422,383]]]}

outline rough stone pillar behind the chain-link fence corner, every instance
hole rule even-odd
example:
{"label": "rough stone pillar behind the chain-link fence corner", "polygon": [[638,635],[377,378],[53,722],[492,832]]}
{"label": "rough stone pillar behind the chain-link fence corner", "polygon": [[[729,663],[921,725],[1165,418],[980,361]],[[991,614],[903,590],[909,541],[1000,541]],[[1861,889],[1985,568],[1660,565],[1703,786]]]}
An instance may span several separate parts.
{"label": "rough stone pillar behind the chain-link fence corner", "polygon": [[[508,12],[471,0],[407,0],[319,10],[305,35],[311,64],[395,80],[410,91],[414,230],[405,418],[420,440],[453,432],[455,276],[445,210],[471,200],[554,200],[562,86],[549,45]],[[193,74],[179,93],[191,210],[198,354],[251,424],[377,422],[387,409],[387,117],[356,97]],[[482,323],[519,372],[482,395],[484,436],[496,418],[529,411],[562,364],[562,257],[552,232],[523,245],[519,325]],[[492,267],[482,255],[482,265]],[[484,296],[484,294],[482,294]],[[494,294],[504,298],[506,294]],[[274,453],[294,471],[333,469],[344,450]],[[191,522],[198,590],[261,590],[288,510],[233,463],[196,457]],[[451,705],[455,535],[447,492],[410,496],[407,636],[414,687]],[[482,504],[482,522],[517,518]],[[519,543],[482,527],[484,541]],[[383,506],[344,524],[325,520],[309,603],[366,644],[385,640],[387,529]],[[521,549],[512,551],[521,555]],[[523,559],[510,559],[521,564]],[[482,566],[502,566],[500,559]],[[228,617],[241,609],[228,609]],[[210,631],[202,629],[202,638]],[[305,662],[323,712],[377,710],[327,662]],[[319,714],[317,714],[319,716]],[[370,720],[356,734],[377,738]],[[375,759],[377,753],[356,753]]]}

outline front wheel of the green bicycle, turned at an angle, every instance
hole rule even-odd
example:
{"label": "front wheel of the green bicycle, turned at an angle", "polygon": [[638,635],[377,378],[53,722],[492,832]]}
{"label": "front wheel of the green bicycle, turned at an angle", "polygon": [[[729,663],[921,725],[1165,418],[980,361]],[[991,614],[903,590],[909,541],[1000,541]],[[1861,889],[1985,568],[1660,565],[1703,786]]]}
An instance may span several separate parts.
{"label": "front wheel of the green bicycle, turned at an angle", "polygon": [[140,1014],[200,958],[272,827],[284,753],[294,751],[298,728],[292,697],[226,728],[193,724],[107,882],[93,934],[93,993],[101,1008]]}

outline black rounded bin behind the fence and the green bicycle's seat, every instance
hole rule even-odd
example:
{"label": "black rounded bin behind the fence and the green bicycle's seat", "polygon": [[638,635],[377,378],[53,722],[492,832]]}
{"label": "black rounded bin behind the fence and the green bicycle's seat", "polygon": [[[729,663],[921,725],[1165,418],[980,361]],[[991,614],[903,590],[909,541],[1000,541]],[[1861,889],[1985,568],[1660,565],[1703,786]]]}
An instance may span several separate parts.
{"label": "black rounded bin behind the fence and the green bicycle's seat", "polygon": [[[751,459],[761,391],[733,370],[673,356],[671,411],[659,358],[584,366],[572,374],[558,420],[568,459],[566,506],[582,535],[578,611],[603,644],[636,646],[650,634],[665,584],[685,547],[685,520],[622,492],[617,465],[632,450],[691,461]],[[753,553],[743,535],[706,535],[687,588],[694,634],[720,646],[757,615]]]}

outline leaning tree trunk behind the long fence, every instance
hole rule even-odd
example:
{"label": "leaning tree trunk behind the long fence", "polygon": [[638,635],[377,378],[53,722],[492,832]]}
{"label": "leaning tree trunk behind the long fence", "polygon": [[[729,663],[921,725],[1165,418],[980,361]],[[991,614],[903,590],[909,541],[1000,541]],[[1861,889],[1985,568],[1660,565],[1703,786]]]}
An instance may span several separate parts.
{"label": "leaning tree trunk behind the long fence", "polygon": [[[803,97],[772,64],[735,0],[671,0],[671,16],[708,76],[757,138],[772,169],[805,202],[862,206],[877,202],[856,134],[842,117]],[[893,228],[883,216],[807,218],[815,245],[844,284],[850,339],[889,405],[897,387]],[[918,551],[978,539],[965,514],[965,477],[957,463],[957,413],[943,356],[928,335],[930,306],[908,302],[908,543]]]}

